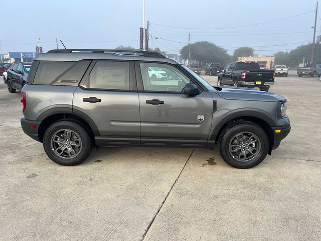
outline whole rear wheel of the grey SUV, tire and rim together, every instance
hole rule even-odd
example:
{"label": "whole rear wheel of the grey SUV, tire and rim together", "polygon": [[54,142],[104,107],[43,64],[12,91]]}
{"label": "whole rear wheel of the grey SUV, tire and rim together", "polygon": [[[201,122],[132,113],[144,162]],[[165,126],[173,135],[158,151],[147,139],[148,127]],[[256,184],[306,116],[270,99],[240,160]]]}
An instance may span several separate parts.
{"label": "whole rear wheel of the grey SUV, tire and rim together", "polygon": [[[70,140],[73,141],[71,145]],[[72,151],[69,151],[68,145]],[[48,157],[55,163],[62,166],[74,166],[86,160],[90,154],[92,142],[83,127],[74,122],[61,121],[52,124],[46,130],[43,146]]]}

